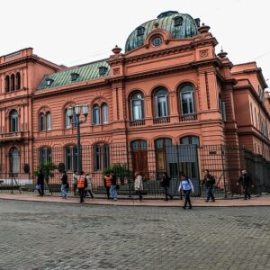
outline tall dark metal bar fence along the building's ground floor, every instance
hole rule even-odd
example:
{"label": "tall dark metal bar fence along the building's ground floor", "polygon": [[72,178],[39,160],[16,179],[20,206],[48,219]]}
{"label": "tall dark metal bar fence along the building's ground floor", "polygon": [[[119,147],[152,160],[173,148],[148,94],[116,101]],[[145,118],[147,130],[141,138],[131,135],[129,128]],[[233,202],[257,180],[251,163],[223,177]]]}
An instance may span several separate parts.
{"label": "tall dark metal bar fence along the building's ground floor", "polygon": [[[160,186],[164,172],[171,177],[170,193],[178,196],[179,174],[184,173],[193,181],[195,195],[204,196],[202,186],[203,171],[208,169],[216,178],[216,197],[228,197],[242,193],[237,185],[240,170],[246,168],[252,176],[255,187],[252,193],[270,192],[270,162],[245,148],[225,145],[171,145],[159,143],[153,146],[144,141],[133,145],[99,144],[82,146],[82,168],[90,173],[94,193],[105,195],[103,175],[112,169],[117,175],[122,197],[134,195],[134,174],[139,171],[144,179],[144,195],[161,198]],[[77,150],[75,146],[66,148],[33,148],[30,152],[19,152],[17,156],[8,156],[1,160],[1,192],[35,192],[36,177],[40,163],[51,162],[58,166],[65,164],[70,193],[73,194],[72,174],[76,170]],[[29,164],[30,172],[23,167]],[[45,193],[60,193],[61,176],[58,169],[45,181]]]}

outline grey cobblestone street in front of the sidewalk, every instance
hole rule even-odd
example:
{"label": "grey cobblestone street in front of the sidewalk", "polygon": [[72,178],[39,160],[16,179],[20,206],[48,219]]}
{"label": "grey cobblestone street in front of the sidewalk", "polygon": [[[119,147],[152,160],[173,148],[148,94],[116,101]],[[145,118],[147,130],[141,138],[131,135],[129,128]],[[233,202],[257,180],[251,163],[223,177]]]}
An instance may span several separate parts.
{"label": "grey cobblestone street in front of the sidewalk", "polygon": [[270,207],[0,200],[0,269],[270,269]]}

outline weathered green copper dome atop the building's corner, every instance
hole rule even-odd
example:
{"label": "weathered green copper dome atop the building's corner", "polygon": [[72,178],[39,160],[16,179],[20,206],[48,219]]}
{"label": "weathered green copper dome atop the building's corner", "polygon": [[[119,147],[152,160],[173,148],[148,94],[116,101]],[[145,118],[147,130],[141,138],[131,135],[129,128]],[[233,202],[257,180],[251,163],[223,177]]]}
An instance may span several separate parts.
{"label": "weathered green copper dome atop the building's corner", "polygon": [[179,14],[175,11],[159,14],[157,19],[142,23],[130,33],[125,51],[142,46],[149,32],[155,28],[155,23],[158,23],[158,28],[170,32],[173,39],[185,39],[198,34],[199,22],[199,19],[194,20],[189,14]]}

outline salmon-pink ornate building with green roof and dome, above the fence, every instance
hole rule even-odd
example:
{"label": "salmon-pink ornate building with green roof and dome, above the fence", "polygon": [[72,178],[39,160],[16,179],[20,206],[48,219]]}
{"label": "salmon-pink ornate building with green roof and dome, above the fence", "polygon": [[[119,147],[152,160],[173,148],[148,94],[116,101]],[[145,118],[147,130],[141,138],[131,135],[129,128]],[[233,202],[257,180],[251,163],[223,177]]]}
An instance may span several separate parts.
{"label": "salmon-pink ornate building with green roof and dome, above the fence", "polygon": [[116,46],[100,61],[63,67],[31,48],[2,56],[1,171],[46,161],[75,169],[76,129],[67,108],[82,103],[90,110],[81,126],[81,143],[92,149],[90,172],[112,162],[112,144],[133,148],[133,169],[142,171],[149,147],[156,150],[153,169],[168,170],[165,148],[176,144],[245,145],[269,159],[270,103],[261,69],[216,53],[209,30],[188,14],[166,12],[132,31],[125,52]]}

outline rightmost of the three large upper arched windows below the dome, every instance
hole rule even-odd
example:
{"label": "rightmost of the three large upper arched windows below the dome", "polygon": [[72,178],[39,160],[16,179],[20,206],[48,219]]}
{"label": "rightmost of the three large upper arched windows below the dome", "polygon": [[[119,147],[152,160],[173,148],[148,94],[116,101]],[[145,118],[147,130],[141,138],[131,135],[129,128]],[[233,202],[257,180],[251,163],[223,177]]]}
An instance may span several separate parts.
{"label": "rightmost of the three large upper arched windows below the dome", "polygon": [[192,114],[195,112],[193,85],[184,85],[180,88],[181,113]]}

